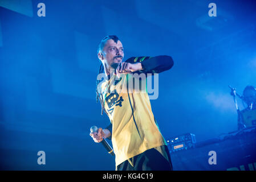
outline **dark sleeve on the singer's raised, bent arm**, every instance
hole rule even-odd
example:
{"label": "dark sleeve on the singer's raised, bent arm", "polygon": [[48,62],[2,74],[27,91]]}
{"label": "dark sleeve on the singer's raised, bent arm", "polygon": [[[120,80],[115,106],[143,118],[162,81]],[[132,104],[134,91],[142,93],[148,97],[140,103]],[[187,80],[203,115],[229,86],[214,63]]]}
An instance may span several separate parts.
{"label": "dark sleeve on the singer's raised, bent arm", "polygon": [[173,59],[170,56],[155,57],[130,57],[128,63],[141,63],[143,70],[140,73],[161,73],[173,67]]}

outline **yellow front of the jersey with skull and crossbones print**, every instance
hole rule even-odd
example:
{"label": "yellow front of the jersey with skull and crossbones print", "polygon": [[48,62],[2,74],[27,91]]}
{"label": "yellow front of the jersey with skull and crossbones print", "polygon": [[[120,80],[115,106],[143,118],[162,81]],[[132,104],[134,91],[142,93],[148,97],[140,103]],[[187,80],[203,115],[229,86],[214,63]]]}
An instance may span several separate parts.
{"label": "yellow front of the jersey with skull and crossbones print", "polygon": [[[112,76],[101,84],[101,90],[99,90],[103,94],[104,107],[112,123],[112,144],[116,156],[116,167],[150,148],[166,145],[152,113],[148,93],[135,93],[138,90],[129,89],[129,92],[133,92],[129,93],[128,97],[127,78],[131,81],[131,74],[121,74],[119,82],[116,81],[119,79],[117,76]],[[113,84],[115,81],[116,85]],[[119,92],[112,93],[115,90]],[[141,90],[146,89],[143,86]]]}

